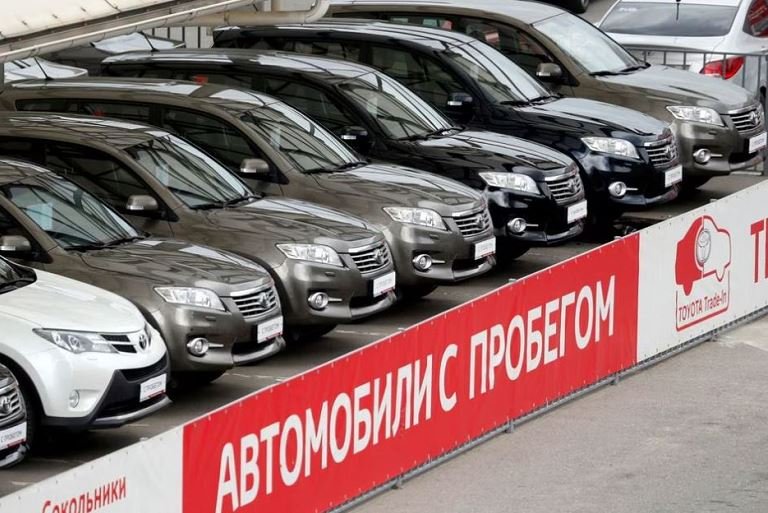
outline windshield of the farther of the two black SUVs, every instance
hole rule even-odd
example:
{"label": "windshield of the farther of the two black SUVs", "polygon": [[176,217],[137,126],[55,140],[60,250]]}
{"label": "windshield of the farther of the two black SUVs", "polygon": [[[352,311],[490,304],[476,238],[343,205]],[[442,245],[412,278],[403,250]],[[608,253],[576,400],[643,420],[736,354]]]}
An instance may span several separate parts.
{"label": "windshield of the farther of the two black SUVs", "polygon": [[551,96],[535,78],[485,43],[474,41],[454,46],[444,55],[496,103],[525,103]]}

